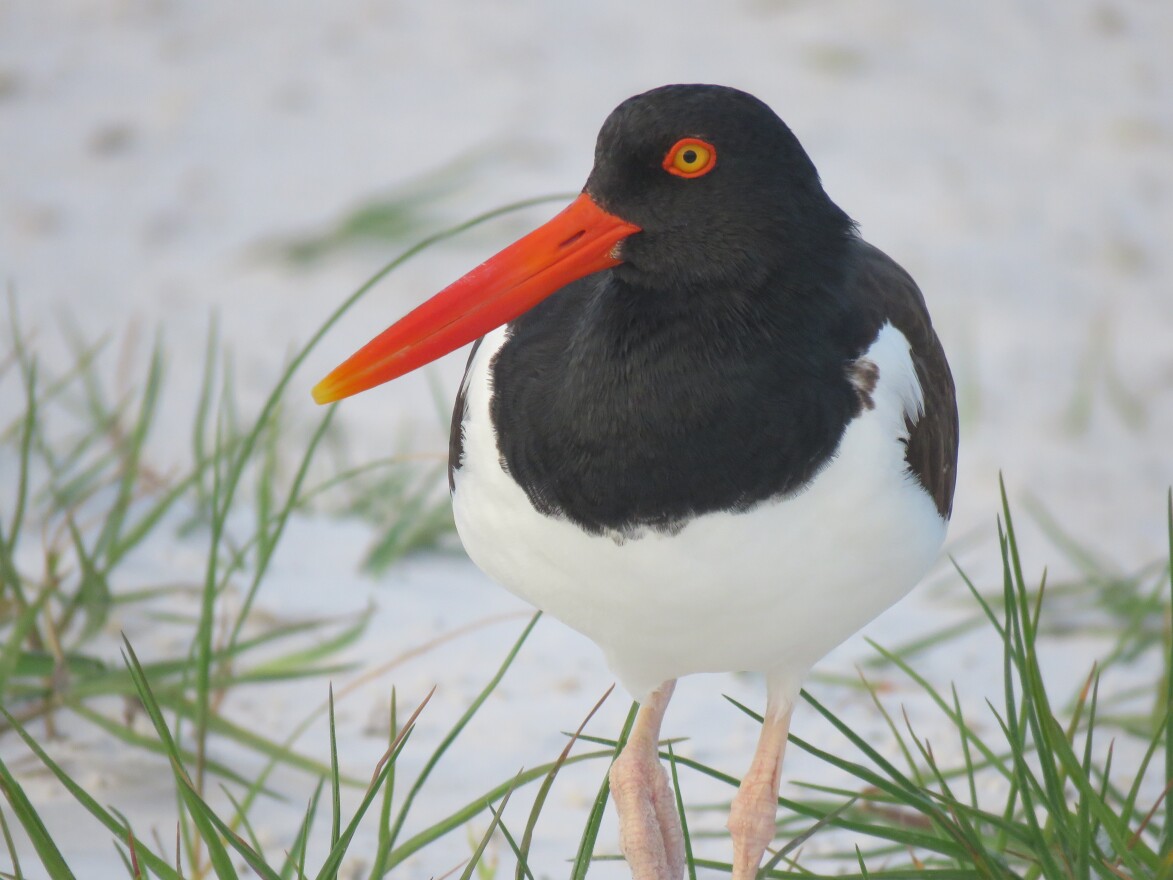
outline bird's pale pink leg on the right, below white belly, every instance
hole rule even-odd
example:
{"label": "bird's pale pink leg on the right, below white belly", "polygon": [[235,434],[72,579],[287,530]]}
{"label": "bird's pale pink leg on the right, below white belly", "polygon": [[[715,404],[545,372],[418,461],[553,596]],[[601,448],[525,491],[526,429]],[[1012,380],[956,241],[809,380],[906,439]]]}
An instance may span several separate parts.
{"label": "bird's pale pink leg on the right, below white belly", "polygon": [[758,750],[730,807],[726,827],[733,838],[733,879],[754,880],[761,857],[774,839],[778,815],[778,784],[782,754],[791,729],[792,699],[777,698],[771,689],[766,717],[761,722]]}

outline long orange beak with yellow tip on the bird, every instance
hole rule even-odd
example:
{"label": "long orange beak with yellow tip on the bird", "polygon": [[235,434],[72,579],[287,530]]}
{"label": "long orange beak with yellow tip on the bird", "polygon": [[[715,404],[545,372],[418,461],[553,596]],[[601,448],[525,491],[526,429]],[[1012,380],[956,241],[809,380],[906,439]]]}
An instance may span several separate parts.
{"label": "long orange beak with yellow tip on the bird", "polygon": [[550,222],[510,244],[391,325],[318,383],[319,404],[409,373],[477,339],[583,276],[618,265],[616,245],[639,226],[585,192]]}

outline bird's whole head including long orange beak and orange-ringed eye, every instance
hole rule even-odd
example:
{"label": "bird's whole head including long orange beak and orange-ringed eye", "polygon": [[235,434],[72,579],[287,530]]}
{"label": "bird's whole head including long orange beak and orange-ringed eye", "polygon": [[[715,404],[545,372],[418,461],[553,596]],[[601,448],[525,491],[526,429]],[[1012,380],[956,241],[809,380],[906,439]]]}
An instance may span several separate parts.
{"label": "bird's whole head including long orange beak and orange-ringed eye", "polygon": [[603,123],[582,195],[372,339],[319,404],[416,370],[601,271],[644,289],[753,289],[818,260],[850,221],[786,124],[723,86],[664,86]]}

